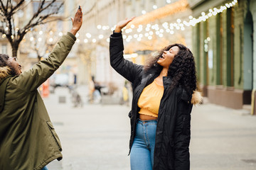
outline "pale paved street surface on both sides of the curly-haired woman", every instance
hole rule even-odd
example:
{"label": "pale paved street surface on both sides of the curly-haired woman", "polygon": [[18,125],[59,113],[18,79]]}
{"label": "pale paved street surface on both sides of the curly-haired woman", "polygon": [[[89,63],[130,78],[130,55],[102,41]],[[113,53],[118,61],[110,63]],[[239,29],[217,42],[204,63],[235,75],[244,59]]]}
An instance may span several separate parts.
{"label": "pale paved street surface on both sides of the curly-haired woman", "polygon": [[[66,102],[59,103],[59,96]],[[73,108],[68,89],[61,88],[44,101],[63,146],[63,160],[50,163],[49,170],[129,169],[129,107]],[[194,107],[191,169],[256,169],[256,116],[248,113],[210,103]]]}

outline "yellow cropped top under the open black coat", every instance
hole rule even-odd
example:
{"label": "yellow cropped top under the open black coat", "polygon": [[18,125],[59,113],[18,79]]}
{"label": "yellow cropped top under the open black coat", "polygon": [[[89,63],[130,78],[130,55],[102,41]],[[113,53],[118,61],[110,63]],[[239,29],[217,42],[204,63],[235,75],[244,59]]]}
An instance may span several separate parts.
{"label": "yellow cropped top under the open black coat", "polygon": [[146,86],[141,96],[139,96],[138,106],[139,114],[158,116],[161,98],[164,94],[164,86],[156,83],[154,80],[149,86]]}

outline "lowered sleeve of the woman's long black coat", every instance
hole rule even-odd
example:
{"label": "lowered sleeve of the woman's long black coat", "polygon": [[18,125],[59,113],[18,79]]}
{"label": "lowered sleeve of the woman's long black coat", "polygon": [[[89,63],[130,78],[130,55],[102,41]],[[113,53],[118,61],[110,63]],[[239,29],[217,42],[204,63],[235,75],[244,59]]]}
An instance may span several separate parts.
{"label": "lowered sleeve of the woman's long black coat", "polygon": [[192,105],[183,91],[178,95],[176,125],[174,128],[174,169],[189,170],[189,142],[191,139]]}

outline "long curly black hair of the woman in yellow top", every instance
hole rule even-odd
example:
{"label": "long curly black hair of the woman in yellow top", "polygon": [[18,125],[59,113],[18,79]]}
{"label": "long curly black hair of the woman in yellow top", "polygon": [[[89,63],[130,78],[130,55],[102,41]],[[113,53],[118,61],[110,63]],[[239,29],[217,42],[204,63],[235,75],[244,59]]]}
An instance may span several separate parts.
{"label": "long curly black hair of the woman in yellow top", "polygon": [[197,89],[196,79],[196,65],[193,54],[186,46],[181,44],[173,44],[164,47],[157,52],[156,57],[149,60],[144,69],[146,72],[154,70],[157,74],[160,74],[163,67],[157,63],[164,51],[170,50],[171,47],[177,46],[179,48],[178,53],[175,55],[173,62],[171,62],[167,76],[172,78],[169,92],[171,92],[176,86],[183,86],[188,95],[192,95],[193,91]]}

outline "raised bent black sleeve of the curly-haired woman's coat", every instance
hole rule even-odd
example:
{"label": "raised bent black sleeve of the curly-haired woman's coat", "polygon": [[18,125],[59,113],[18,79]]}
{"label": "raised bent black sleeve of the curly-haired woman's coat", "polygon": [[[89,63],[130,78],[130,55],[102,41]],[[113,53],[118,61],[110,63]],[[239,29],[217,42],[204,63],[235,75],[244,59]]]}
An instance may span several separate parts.
{"label": "raised bent black sleeve of the curly-haired woman's coat", "polygon": [[137,75],[142,72],[143,66],[125,60],[123,50],[122,33],[110,35],[110,64],[122,77],[134,83]]}

